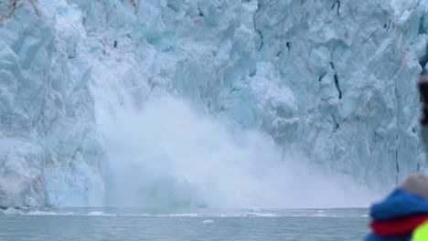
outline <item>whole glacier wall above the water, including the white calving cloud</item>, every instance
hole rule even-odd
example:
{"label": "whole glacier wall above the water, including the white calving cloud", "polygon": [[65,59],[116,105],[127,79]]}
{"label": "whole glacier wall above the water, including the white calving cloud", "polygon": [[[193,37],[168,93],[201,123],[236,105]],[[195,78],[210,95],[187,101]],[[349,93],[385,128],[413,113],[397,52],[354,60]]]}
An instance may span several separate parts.
{"label": "whole glacier wall above the water, including the white calving cloud", "polygon": [[426,172],[427,10],[0,1],[0,206],[368,204]]}

